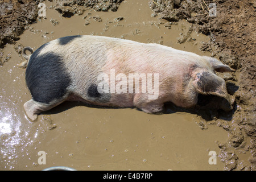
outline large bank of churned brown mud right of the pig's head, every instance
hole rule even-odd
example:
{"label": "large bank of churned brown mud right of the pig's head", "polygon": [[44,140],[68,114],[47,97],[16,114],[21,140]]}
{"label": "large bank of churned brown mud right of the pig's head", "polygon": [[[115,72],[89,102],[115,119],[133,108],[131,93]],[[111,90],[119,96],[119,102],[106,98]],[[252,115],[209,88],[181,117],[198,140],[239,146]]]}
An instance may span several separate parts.
{"label": "large bank of churned brown mud right of the pig's head", "polygon": [[[210,16],[209,3],[216,4],[216,16]],[[255,11],[256,3],[250,1],[150,1],[154,16],[176,22],[186,19],[193,23],[193,30],[210,36],[202,51],[209,51],[213,57],[236,69],[236,73],[220,76],[226,81],[228,92],[235,98],[232,117],[223,115],[228,122],[217,119],[215,123],[229,131],[229,141],[220,144],[220,155],[226,169],[256,169],[256,121],[255,121]],[[213,117],[214,118],[214,117]],[[212,118],[212,119],[213,119]],[[246,139],[250,138],[245,147]],[[231,146],[231,147],[228,147]],[[234,149],[251,152],[250,164],[246,166]],[[247,162],[247,161],[246,161]]]}

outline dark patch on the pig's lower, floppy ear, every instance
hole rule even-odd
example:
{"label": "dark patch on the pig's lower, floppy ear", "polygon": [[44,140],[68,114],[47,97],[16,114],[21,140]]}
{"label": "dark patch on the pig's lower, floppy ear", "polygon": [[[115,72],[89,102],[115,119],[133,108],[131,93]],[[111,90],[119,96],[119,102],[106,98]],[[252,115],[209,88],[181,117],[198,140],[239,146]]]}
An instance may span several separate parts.
{"label": "dark patch on the pig's lower, floppy ear", "polygon": [[[199,73],[197,74],[199,75]],[[209,93],[216,92],[222,83],[214,77],[213,73],[203,72],[200,81],[197,81],[197,85],[203,92]]]}

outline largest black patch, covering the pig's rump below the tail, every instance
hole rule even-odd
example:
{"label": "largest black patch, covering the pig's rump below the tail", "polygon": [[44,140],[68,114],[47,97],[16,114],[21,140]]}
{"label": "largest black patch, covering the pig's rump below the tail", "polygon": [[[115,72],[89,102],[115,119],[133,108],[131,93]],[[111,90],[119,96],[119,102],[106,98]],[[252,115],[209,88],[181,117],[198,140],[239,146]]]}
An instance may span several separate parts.
{"label": "largest black patch, covering the pig's rump below the tail", "polygon": [[71,78],[66,73],[62,58],[56,53],[39,55],[44,44],[31,55],[26,69],[26,83],[32,98],[44,104],[63,98]]}

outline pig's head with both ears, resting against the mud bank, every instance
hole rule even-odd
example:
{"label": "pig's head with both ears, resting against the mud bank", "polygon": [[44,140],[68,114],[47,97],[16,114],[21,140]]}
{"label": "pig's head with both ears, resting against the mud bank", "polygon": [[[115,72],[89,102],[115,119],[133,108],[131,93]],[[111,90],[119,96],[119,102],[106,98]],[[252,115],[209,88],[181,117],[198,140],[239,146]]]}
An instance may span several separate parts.
{"label": "pig's head with both ears, resting against the mud bank", "polygon": [[[218,77],[215,74],[215,71],[234,72],[234,69],[230,68],[228,65],[222,64],[221,61],[214,59],[213,57],[203,56],[203,58],[205,59],[205,61],[207,61],[208,66],[207,68],[199,68],[195,70],[193,74],[194,80],[192,81],[192,85],[200,94],[211,94],[223,97],[226,101],[230,103],[230,97],[226,90],[226,83],[223,78]],[[222,109],[228,110],[225,109],[225,107]]]}

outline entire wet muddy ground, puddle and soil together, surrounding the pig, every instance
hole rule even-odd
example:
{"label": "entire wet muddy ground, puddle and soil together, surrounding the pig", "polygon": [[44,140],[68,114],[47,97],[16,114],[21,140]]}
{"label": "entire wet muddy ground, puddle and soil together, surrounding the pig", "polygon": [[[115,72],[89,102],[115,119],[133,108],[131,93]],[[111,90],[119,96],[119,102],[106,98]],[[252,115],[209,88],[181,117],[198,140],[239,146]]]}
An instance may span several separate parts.
{"label": "entire wet muddy ground, puddle and soil together, surrounding the pig", "polygon": [[[237,29],[238,34],[243,34],[238,40],[243,47],[249,47],[246,55],[229,34],[232,30],[228,25],[235,29],[237,24],[209,18],[207,7],[201,6],[204,2],[43,1],[45,17],[37,16],[38,3],[1,1],[0,7],[5,10],[0,19],[1,170],[42,170],[52,166],[78,170],[255,169],[255,49],[251,44],[255,28],[251,23]],[[225,2],[216,3],[221,14]],[[242,11],[240,3],[235,4]],[[255,8],[254,3],[248,6]],[[13,10],[19,9],[26,10],[23,19],[15,18],[19,13]],[[253,18],[250,13],[247,10],[244,14]],[[19,30],[10,31],[10,27]],[[248,27],[250,32],[246,31]],[[24,80],[25,69],[19,67],[24,61],[22,48],[36,50],[69,35],[159,43],[217,57],[237,70],[218,73],[233,97],[233,110],[225,112],[221,98],[210,96],[201,96],[193,109],[167,103],[162,114],[96,108],[69,101],[30,122],[23,111],[24,102],[31,96]],[[246,39],[249,35],[250,39]],[[46,152],[46,164],[40,164],[39,151]],[[217,164],[209,164],[210,151],[216,151]]]}

